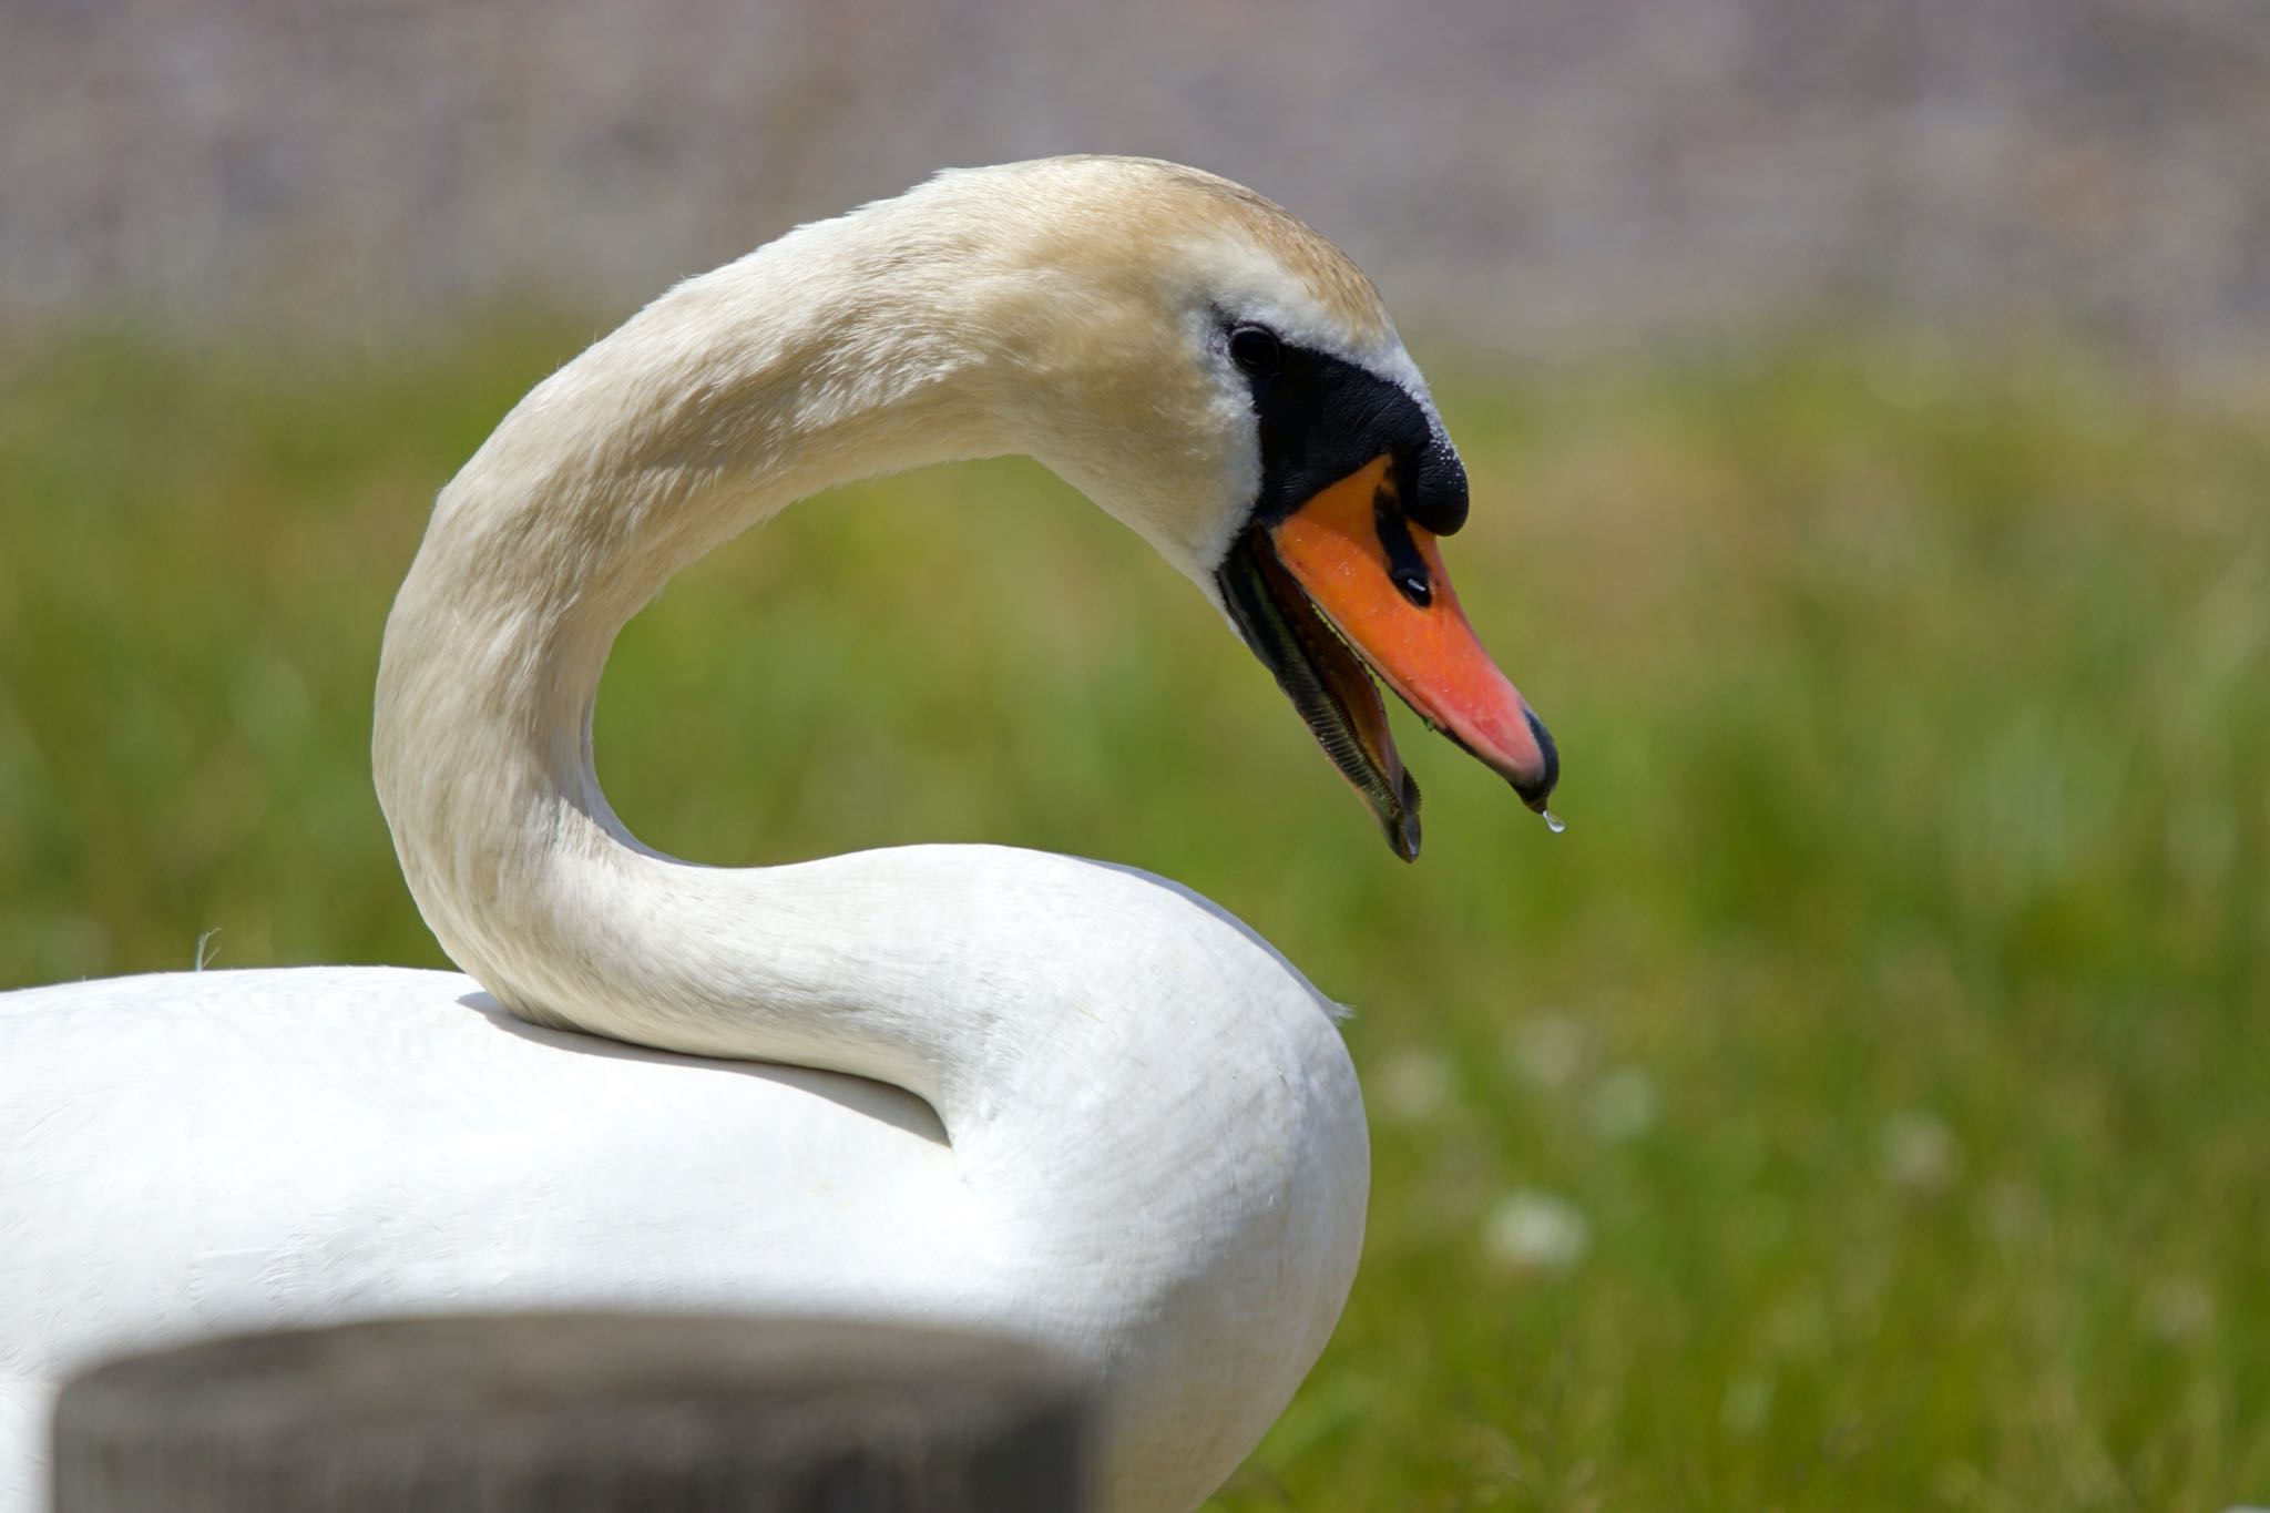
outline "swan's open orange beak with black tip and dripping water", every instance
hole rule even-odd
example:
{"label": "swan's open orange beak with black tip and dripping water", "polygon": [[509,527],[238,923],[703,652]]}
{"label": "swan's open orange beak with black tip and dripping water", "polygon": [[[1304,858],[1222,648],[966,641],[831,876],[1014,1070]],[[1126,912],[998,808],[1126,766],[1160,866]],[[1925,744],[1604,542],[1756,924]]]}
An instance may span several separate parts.
{"label": "swan's open orange beak with black tip and dripping water", "polygon": [[1419,789],[1364,667],[1544,812],[1559,778],[1553,737],[1476,640],[1435,535],[1403,513],[1392,456],[1248,531],[1221,585],[1246,642],[1371,801],[1396,855],[1419,855]]}

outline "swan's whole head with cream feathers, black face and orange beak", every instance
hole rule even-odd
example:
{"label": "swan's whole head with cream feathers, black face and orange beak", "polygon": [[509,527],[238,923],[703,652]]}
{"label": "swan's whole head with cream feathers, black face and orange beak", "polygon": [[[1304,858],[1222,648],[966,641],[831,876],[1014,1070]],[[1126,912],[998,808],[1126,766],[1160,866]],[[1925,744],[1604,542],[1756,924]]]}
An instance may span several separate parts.
{"label": "swan's whole head with cream feathers, black face and orange beak", "polygon": [[1387,844],[1419,787],[1378,685],[1535,810],[1553,737],[1482,651],[1437,540],[1466,472],[1378,290],[1260,195],[1149,159],[949,172],[903,202],[985,218],[953,299],[990,333],[992,420],[1228,615]]}

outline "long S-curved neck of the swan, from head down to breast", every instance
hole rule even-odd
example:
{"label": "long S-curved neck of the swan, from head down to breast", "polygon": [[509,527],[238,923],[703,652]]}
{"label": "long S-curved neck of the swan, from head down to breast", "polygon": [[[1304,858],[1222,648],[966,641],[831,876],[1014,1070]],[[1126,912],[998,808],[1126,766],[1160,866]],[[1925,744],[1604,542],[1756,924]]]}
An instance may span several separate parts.
{"label": "long S-curved neck of the swan, from head down to breast", "polygon": [[[804,227],[538,386],[443,490],[395,601],[379,798],[443,948],[524,1018],[885,1080],[956,1143],[990,1109],[1044,1127],[1115,1068],[1151,1068],[1110,1084],[1146,1148],[1087,1155],[1171,1182],[1189,1166],[1162,1130],[1203,1146],[1242,1118],[1221,1064],[1344,1068],[1321,1000],[1242,925],[1153,878],[999,848],[690,867],[638,844],[592,774],[615,633],[792,499],[1008,449],[1201,492],[1214,449],[1142,470],[1124,449],[1155,426],[1096,440],[1096,415],[1174,392],[1167,363],[1128,352],[1140,322],[1067,295],[1028,234],[969,225],[906,197]],[[1078,324],[1074,349],[1117,343],[1087,372],[1133,374],[1144,402],[1067,392],[1078,372],[1046,367],[1067,345],[1035,338],[1051,318]],[[1178,533],[1158,510],[1130,524]]]}

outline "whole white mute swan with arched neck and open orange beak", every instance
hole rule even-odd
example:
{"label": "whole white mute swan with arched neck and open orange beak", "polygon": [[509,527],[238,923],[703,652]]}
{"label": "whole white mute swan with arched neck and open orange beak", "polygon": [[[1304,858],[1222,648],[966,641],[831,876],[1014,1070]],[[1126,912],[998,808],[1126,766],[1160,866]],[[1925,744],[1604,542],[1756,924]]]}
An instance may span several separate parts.
{"label": "whole white mute swan with arched neck and open orange beak", "polygon": [[1221,1484],[1355,1273],[1332,1005],[1160,878],[992,846],[706,869],[592,776],[608,644],[672,572],[833,483],[1010,451],[1228,612],[1398,855],[1416,789],[1364,662],[1544,808],[1553,746],[1435,549],[1457,454],[1323,238],[1140,159],[801,227],[540,383],[436,504],[372,758],[470,975],[0,998],[0,1504],[95,1354],[611,1302],[1035,1334],[1105,1391],[1099,1506]]}

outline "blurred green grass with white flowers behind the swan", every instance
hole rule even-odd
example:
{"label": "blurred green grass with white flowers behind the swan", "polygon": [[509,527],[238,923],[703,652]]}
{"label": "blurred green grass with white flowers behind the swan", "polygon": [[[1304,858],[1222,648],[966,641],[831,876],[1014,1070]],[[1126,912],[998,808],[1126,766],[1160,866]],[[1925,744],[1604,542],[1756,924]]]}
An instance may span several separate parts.
{"label": "blurred green grass with white flowers behind the swan", "polygon": [[[427,501],[590,331],[0,340],[0,987],[440,957],[365,774]],[[1403,721],[1405,869],[1026,463],[790,513],[627,633],[624,819],[1189,882],[1357,1007],[1348,1316],[1219,1508],[2270,1502],[2270,431],[2070,354],[1437,374],[1566,758]]]}

